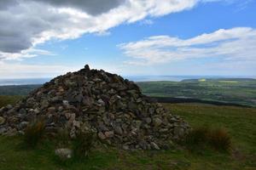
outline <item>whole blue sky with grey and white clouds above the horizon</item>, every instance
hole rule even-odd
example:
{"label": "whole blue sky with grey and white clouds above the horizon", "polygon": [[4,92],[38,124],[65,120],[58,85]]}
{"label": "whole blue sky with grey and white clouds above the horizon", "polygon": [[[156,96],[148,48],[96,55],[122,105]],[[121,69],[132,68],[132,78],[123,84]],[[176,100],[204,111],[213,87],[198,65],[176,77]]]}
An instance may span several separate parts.
{"label": "whole blue sky with grey and white clouds above the horizon", "polygon": [[0,79],[84,65],[256,78],[256,0],[0,0]]}

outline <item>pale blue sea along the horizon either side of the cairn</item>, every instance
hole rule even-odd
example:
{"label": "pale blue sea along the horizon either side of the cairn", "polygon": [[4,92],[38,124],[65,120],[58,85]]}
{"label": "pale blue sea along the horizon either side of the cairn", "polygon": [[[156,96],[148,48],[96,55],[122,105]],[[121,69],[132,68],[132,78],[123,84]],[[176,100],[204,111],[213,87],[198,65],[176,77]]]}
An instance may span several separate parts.
{"label": "pale blue sea along the horizon either side of the cairn", "polygon": [[[235,78],[235,77],[220,77],[220,76],[124,76],[134,82],[152,82],[152,81],[173,81],[180,82],[186,79],[200,79],[200,78]],[[32,85],[44,84],[49,82],[52,78],[14,78],[14,79],[0,79],[0,86],[9,85]]]}

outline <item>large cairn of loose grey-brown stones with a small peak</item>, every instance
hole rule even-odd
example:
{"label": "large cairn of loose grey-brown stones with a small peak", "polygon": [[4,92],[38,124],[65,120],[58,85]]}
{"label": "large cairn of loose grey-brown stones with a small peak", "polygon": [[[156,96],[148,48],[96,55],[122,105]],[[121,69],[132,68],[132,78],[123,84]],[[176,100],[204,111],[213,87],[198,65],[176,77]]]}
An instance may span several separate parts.
{"label": "large cairn of loose grey-brown stones with a small peak", "polygon": [[22,133],[42,116],[48,132],[69,127],[75,137],[93,129],[103,143],[125,150],[158,150],[189,130],[186,122],[143,95],[134,82],[88,65],[55,77],[16,105],[0,109],[0,133]]}

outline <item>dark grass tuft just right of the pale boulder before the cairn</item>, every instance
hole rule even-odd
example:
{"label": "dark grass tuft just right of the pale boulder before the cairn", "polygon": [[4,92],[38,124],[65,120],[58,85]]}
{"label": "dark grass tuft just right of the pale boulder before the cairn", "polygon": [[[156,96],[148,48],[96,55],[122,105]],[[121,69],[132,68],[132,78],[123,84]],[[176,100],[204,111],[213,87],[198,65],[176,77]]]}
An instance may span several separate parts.
{"label": "dark grass tuft just right of the pale boulder before the cairn", "polygon": [[95,133],[79,132],[75,139],[73,139],[73,153],[76,157],[87,157],[92,150],[96,141]]}

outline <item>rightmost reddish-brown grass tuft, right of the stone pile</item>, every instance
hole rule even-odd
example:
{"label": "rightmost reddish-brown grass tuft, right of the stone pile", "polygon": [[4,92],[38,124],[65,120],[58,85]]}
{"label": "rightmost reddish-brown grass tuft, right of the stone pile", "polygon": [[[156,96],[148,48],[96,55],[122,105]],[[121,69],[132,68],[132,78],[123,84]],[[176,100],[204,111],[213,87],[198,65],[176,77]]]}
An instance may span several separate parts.
{"label": "rightmost reddish-brown grass tuft, right of the stone pile", "polygon": [[209,143],[217,150],[230,150],[230,135],[222,128],[212,129],[209,135]]}

